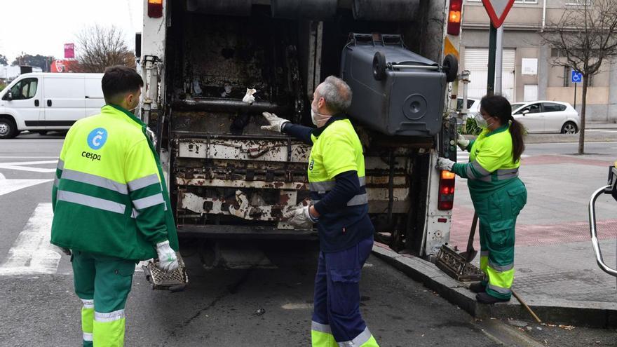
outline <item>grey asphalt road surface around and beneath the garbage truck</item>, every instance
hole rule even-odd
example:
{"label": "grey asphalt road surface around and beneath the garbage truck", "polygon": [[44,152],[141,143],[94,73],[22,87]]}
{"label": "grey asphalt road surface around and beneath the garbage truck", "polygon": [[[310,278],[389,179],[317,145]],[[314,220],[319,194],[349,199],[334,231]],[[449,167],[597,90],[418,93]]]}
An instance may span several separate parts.
{"label": "grey asphalt road surface around and beneath the garbage truck", "polygon": [[[54,135],[0,142],[0,346],[80,343],[81,304],[72,292],[69,259],[47,243],[51,180],[61,146],[62,137]],[[572,153],[573,146],[530,145],[526,153]],[[617,143],[588,148],[609,156],[610,146]],[[182,243],[190,275],[182,293],[151,290],[137,269],[127,304],[127,346],[309,344],[314,243],[242,245],[261,254],[259,266],[215,270],[203,266],[205,247],[196,240]],[[369,258],[361,287],[362,313],[381,346],[536,346],[522,343],[530,335],[506,322],[474,320],[377,258]],[[533,337],[555,341],[550,346],[586,346],[611,336],[546,328],[534,330]]]}

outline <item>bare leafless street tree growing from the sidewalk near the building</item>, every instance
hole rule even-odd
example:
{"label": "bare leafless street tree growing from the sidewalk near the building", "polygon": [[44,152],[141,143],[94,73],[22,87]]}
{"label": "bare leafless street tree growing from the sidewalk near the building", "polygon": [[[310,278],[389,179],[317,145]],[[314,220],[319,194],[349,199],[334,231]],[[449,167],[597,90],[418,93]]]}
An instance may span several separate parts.
{"label": "bare leafless street tree growing from the sidewalk near the building", "polygon": [[585,150],[585,109],[591,76],[602,62],[617,57],[617,0],[576,0],[580,5],[564,11],[559,21],[542,32],[543,44],[557,49],[562,58],[556,66],[567,66],[583,74],[583,102],[578,154]]}

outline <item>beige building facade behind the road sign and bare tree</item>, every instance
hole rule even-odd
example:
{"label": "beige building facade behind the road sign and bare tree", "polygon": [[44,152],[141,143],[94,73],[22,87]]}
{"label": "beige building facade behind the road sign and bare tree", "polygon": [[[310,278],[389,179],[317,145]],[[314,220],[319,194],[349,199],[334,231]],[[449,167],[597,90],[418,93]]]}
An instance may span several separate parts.
{"label": "beige building facade behind the road sign and bare tree", "polygon": [[[541,32],[558,22],[564,9],[585,0],[516,0],[503,25],[502,95],[510,102],[553,100],[574,106],[571,68],[557,66],[562,53],[544,46]],[[470,71],[468,97],[486,94],[489,16],[480,0],[465,0],[461,32],[461,71]],[[462,89],[459,90],[461,95]],[[581,112],[583,83],[576,87]],[[617,64],[604,62],[592,76],[587,95],[587,120],[617,123]]]}

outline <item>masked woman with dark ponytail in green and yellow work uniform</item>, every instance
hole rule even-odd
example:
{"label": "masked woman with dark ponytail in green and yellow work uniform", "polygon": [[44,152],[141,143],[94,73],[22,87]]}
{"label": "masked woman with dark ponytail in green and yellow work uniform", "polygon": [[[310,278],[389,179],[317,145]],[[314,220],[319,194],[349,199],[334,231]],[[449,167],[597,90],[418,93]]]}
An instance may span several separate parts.
{"label": "masked woman with dark ponytail in green and yellow work uniform", "polygon": [[477,139],[458,139],[459,147],[470,153],[469,163],[439,158],[437,167],[468,179],[480,219],[480,269],[485,274],[470,290],[478,293],[477,301],[494,304],[512,296],[516,218],[527,203],[527,189],[518,177],[523,127],[500,95],[482,98],[475,121],[482,128]]}

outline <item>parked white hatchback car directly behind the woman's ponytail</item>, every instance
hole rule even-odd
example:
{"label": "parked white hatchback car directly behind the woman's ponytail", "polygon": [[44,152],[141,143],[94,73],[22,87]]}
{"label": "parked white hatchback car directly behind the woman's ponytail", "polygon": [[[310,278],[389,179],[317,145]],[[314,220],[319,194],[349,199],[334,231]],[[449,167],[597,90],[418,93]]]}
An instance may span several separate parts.
{"label": "parked white hatchback car directly behind the woman's ponytail", "polygon": [[567,102],[516,102],[512,115],[528,132],[576,134],[580,128],[578,112]]}

